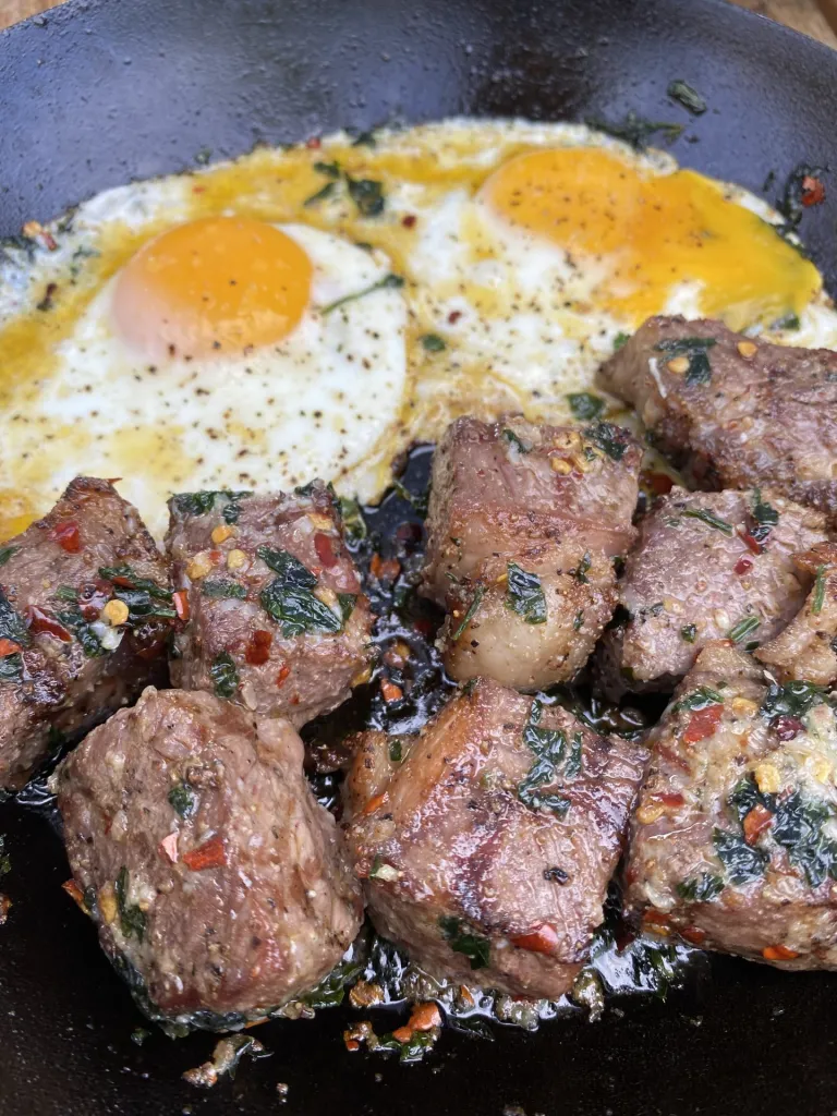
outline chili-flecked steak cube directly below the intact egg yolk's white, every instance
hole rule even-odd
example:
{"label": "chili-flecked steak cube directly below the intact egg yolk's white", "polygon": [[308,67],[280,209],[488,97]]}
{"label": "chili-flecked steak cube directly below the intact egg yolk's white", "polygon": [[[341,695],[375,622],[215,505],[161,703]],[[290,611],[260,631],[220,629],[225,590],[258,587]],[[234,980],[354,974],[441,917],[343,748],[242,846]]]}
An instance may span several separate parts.
{"label": "chili-flecked steak cube directly below the intact egg yolk's white", "polygon": [[192,492],[169,501],[172,576],[189,595],[172,681],[305,724],[368,677],[372,614],[337,500]]}

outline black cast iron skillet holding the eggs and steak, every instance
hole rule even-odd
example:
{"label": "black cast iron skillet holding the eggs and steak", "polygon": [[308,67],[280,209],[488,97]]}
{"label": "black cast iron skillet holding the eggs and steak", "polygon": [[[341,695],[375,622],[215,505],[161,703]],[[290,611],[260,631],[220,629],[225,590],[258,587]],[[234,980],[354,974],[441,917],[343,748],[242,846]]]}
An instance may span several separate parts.
{"label": "black cast iron skillet holding the eggs and steak", "polygon": [[[666,98],[684,78],[709,110]],[[681,162],[762,192],[837,166],[837,55],[719,0],[75,0],[0,36],[0,234],[107,186],[253,142],[453,114],[685,123]],[[775,200],[778,185],[767,189]],[[829,190],[830,190],[829,184]],[[837,194],[837,191],[833,191]],[[837,289],[837,205],[802,234]],[[2,355],[0,354],[0,360]],[[0,434],[1,436],[1,434]],[[0,1113],[771,1116],[837,1108],[837,980],[730,959],[667,1004],[620,1001],[497,1041],[449,1033],[426,1064],[347,1054],[344,1017],[267,1024],[273,1057],[203,1095],[181,1081],[213,1045],[155,1033],[61,892],[57,838],[0,806],[13,906],[0,929]]]}

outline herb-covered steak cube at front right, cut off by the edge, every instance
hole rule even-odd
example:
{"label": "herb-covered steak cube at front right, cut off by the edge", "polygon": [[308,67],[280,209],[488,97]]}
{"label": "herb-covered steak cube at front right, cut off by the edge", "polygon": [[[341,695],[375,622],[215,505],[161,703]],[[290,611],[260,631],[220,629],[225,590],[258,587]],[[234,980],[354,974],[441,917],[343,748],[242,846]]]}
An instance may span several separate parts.
{"label": "herb-covered steak cube at front right, cut off by the edge", "polygon": [[810,682],[780,685],[709,644],[653,730],[634,815],[629,916],[790,969],[837,969],[837,723]]}

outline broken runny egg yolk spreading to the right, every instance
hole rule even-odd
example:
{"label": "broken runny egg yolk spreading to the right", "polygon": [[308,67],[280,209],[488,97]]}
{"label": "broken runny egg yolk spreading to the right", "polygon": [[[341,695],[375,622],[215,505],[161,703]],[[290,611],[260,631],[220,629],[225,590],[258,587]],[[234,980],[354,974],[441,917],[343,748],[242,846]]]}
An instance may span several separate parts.
{"label": "broken runny egg yolk spreading to the right", "polygon": [[732,329],[801,311],[817,269],[761,218],[694,171],[654,174],[603,148],[519,155],[483,187],[507,221],[602,261],[597,305],[639,325],[674,288],[699,283],[702,314]]}

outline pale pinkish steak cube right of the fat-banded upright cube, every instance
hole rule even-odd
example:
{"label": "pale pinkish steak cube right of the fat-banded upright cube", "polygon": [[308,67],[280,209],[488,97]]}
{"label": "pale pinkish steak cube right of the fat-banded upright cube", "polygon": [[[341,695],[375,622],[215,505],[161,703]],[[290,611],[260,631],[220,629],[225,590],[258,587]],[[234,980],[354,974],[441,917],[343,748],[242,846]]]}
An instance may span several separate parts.
{"label": "pale pinkish steak cube right of the fat-banded upright cube", "polygon": [[622,608],[600,648],[605,691],[673,690],[710,641],[752,650],[771,639],[811,585],[793,550],[825,533],[821,512],[768,489],[672,489],[625,561]]}

